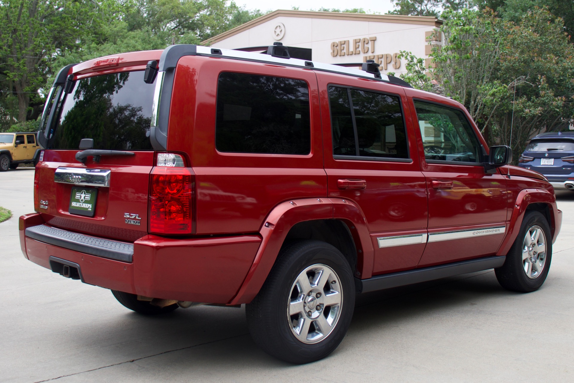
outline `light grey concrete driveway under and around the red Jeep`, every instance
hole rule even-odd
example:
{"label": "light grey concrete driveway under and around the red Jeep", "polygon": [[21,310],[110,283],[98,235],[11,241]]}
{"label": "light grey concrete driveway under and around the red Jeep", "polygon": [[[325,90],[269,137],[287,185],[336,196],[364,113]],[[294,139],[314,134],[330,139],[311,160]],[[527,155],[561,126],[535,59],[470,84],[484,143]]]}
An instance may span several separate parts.
{"label": "light grey concrete driveway under and around the red Jeep", "polygon": [[492,270],[361,296],[346,338],[294,366],[259,350],[244,308],[146,318],[111,292],[22,256],[18,216],[33,212],[33,168],[0,173],[1,382],[574,381],[574,193],[546,283],[499,287]]}

